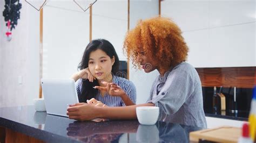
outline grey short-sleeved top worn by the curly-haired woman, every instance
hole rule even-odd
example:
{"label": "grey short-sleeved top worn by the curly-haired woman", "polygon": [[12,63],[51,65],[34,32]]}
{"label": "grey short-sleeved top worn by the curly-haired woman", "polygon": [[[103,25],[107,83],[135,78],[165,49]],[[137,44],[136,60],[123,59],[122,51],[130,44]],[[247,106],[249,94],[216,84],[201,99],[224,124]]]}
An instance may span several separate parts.
{"label": "grey short-sleeved top worn by the curly-haired woman", "polygon": [[159,120],[207,127],[200,78],[189,63],[181,62],[163,77],[159,75],[147,103],[159,107]]}

